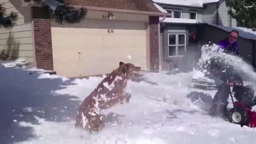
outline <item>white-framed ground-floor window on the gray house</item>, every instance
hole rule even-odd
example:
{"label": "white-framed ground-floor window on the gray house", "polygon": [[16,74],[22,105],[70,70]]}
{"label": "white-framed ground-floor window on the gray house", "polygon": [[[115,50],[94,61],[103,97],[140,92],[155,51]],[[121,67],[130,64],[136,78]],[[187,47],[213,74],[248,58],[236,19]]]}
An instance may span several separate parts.
{"label": "white-framed ground-floor window on the gray house", "polygon": [[186,34],[168,34],[168,56],[183,56],[186,52]]}

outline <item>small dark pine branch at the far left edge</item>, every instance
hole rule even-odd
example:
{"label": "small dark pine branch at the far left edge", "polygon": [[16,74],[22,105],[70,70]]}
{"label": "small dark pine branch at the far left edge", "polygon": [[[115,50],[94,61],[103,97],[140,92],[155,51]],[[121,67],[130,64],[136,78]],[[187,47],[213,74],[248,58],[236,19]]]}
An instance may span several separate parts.
{"label": "small dark pine branch at the far left edge", "polygon": [[11,12],[8,14],[8,16],[4,16],[6,14],[5,8],[2,7],[2,4],[0,4],[0,26],[3,26],[4,28],[13,28],[16,25],[18,14]]}

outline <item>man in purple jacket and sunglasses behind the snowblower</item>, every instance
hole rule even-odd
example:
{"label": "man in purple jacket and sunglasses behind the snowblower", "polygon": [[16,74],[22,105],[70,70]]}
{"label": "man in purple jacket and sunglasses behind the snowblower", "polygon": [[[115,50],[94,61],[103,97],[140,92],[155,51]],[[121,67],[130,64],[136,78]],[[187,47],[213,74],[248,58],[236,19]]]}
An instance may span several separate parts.
{"label": "man in purple jacket and sunglasses behind the snowblower", "polygon": [[[227,54],[238,55],[239,49],[236,44],[236,40],[238,38],[238,31],[232,30],[228,38],[220,41],[218,46],[224,50]],[[212,114],[217,114],[220,116],[227,116],[227,105],[228,105],[228,97],[230,93],[230,86],[227,84],[227,78],[232,75],[232,69],[222,62],[216,62],[216,60],[212,60],[210,64],[211,72],[215,76],[214,81],[215,85],[218,88],[216,92],[212,106],[210,108],[210,112]],[[230,70],[231,69],[231,70]],[[223,72],[226,70],[226,72]]]}

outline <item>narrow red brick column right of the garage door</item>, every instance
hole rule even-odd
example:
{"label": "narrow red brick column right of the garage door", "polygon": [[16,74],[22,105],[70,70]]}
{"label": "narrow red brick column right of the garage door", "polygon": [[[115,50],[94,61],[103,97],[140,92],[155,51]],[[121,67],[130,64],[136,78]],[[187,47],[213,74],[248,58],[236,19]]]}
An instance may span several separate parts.
{"label": "narrow red brick column right of the garage door", "polygon": [[159,71],[159,16],[149,16],[150,70]]}

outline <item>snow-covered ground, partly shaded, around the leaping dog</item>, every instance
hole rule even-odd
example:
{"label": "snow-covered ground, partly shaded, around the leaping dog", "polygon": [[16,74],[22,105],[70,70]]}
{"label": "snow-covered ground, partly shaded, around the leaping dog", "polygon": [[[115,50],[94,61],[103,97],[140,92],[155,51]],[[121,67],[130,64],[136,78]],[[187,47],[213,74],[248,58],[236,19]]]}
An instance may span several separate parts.
{"label": "snow-covered ground, partly shaded, around the leaping dog", "polygon": [[[12,64],[12,65],[11,65]],[[5,67],[8,66],[8,67]],[[0,65],[0,144],[239,144],[255,143],[253,128],[211,117],[186,98],[190,92],[214,96],[211,79],[200,71],[141,72],[150,82],[129,81],[130,103],[102,111],[98,133],[74,128],[79,104],[103,79],[68,79],[42,70]],[[195,85],[200,85],[195,86]],[[207,86],[206,86],[207,87]]]}

